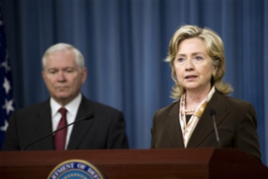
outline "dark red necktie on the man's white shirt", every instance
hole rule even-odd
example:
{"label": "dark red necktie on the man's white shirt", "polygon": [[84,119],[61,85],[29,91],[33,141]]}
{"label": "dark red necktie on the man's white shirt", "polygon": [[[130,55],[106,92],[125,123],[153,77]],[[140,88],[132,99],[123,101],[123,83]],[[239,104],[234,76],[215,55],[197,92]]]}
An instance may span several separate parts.
{"label": "dark red necktie on the man's white shirt", "polygon": [[[57,129],[66,126],[66,112],[67,110],[65,108],[59,109],[59,112],[61,113],[61,120],[59,121]],[[54,148],[56,151],[64,150],[65,149],[65,141],[66,141],[66,134],[67,134],[67,128],[64,128],[54,135]]]}

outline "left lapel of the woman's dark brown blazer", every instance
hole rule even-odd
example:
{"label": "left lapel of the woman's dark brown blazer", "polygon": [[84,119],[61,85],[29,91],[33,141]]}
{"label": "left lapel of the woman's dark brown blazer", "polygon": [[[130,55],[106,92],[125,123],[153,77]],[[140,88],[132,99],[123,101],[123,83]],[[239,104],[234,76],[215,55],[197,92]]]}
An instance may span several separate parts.
{"label": "left lapel of the woman's dark brown blazer", "polygon": [[169,138],[175,148],[184,147],[179,120],[179,104],[180,102],[178,101],[169,115],[164,119]]}

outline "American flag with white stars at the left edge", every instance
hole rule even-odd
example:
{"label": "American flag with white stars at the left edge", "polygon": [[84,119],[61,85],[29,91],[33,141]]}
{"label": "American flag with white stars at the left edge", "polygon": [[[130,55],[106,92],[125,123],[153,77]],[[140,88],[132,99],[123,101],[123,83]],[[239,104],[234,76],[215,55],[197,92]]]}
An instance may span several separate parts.
{"label": "American flag with white stars at the left edge", "polygon": [[12,97],[12,76],[9,55],[6,48],[4,23],[0,3],[0,149],[5,140],[8,119],[15,110]]}

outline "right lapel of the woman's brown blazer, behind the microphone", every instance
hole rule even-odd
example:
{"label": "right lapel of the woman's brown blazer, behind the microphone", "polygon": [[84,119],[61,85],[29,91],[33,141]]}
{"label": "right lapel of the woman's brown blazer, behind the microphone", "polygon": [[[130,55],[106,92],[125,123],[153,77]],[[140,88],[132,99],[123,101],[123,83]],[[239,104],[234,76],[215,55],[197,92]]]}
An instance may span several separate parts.
{"label": "right lapel of the woman's brown blazer, behind the microphone", "polygon": [[216,111],[215,121],[217,126],[229,114],[229,111],[225,108],[223,95],[215,91],[192,133],[187,148],[197,147],[214,130],[213,118],[210,115],[211,108]]}

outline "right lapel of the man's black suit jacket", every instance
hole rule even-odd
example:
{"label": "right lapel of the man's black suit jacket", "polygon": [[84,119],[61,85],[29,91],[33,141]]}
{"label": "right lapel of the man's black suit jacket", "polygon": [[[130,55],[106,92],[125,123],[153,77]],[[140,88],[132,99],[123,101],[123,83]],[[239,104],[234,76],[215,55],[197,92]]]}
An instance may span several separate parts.
{"label": "right lapel of the man's black suit jacket", "polygon": [[[79,120],[87,113],[94,113],[93,106],[88,105],[87,99],[82,96],[82,101],[77,111],[75,120]],[[90,127],[93,123],[94,118],[74,124],[67,149],[77,149],[81,140],[83,140],[84,135],[88,132],[88,130],[90,130]]]}

